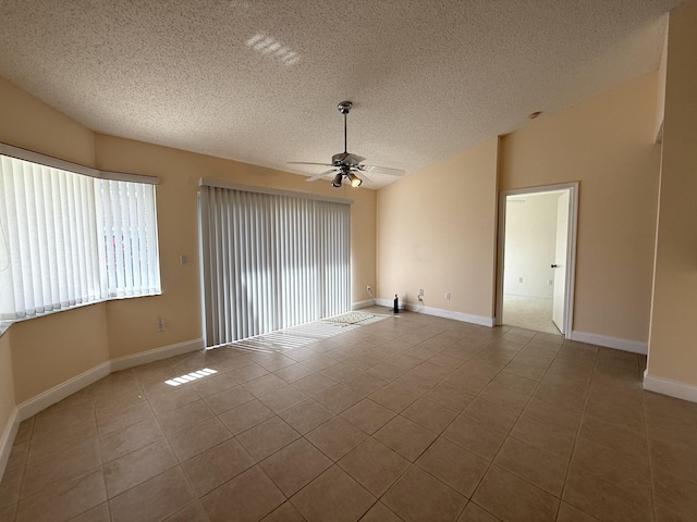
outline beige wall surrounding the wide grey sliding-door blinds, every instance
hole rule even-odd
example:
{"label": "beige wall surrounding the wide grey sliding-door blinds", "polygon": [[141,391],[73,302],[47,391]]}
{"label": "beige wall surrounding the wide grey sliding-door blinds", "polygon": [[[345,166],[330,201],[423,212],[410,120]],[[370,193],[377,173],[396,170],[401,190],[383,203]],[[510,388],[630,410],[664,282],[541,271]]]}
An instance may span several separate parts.
{"label": "beige wall surrounding the wide grey sliding-door blinds", "polygon": [[[353,301],[368,298],[366,283],[375,279],[375,190],[335,189],[327,182],[306,183],[303,176],[271,169],[169,149],[113,136],[97,135],[99,169],[159,177],[158,228],[162,295],[107,303],[111,357],[199,338],[199,268],[197,190],[199,177],[232,181],[353,199]],[[179,263],[180,254],[188,263]],[[164,332],[156,331],[157,318]],[[123,325],[129,327],[124,328]]]}

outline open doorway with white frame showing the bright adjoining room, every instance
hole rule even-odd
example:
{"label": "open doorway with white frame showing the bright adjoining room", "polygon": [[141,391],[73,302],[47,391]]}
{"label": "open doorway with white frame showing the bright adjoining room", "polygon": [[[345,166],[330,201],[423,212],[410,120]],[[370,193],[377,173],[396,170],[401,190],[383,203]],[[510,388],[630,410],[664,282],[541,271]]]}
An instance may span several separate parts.
{"label": "open doorway with white frame showing the bright adjoining room", "polygon": [[497,324],[571,338],[578,184],[501,192]]}

